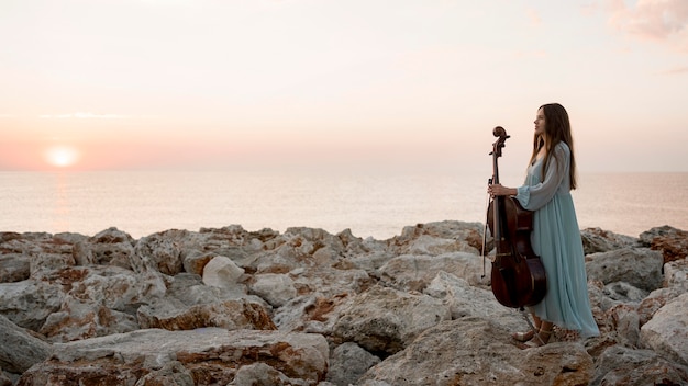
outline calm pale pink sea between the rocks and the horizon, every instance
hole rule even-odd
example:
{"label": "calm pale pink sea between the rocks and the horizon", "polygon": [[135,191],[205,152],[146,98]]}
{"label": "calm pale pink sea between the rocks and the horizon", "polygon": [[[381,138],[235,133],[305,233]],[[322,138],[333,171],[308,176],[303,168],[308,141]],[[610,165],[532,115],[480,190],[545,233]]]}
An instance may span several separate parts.
{"label": "calm pale pink sea between the rocks and the horizon", "polygon": [[[518,185],[519,175],[502,177]],[[138,239],[167,229],[240,225],[349,229],[385,240],[407,226],[485,224],[487,177],[471,172],[98,171],[0,172],[0,231],[77,232],[115,227]],[[581,229],[637,237],[688,230],[688,173],[587,173],[573,192]]]}

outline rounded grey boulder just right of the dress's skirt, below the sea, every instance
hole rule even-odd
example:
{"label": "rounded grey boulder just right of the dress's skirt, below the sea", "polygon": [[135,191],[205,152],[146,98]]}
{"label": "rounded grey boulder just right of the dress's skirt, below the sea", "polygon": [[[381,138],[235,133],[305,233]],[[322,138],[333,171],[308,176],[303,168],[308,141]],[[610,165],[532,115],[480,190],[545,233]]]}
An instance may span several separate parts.
{"label": "rounded grey boulder just right of the dress's skirt, below the sea", "polygon": [[625,282],[651,292],[662,286],[662,253],[646,248],[623,248],[588,256],[588,280],[604,284]]}

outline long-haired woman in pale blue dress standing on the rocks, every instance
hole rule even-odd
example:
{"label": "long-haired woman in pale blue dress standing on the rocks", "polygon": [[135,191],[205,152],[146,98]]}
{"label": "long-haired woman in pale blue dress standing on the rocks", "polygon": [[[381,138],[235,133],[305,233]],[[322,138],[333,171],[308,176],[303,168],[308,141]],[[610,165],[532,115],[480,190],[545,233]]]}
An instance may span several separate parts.
{"label": "long-haired woman in pale blue dress standing on the rocks", "polygon": [[488,186],[490,195],[514,196],[533,212],[531,245],[545,268],[547,292],[530,308],[535,330],[514,334],[529,347],[546,344],[554,325],[577,330],[584,338],[599,334],[590,310],[582,242],[570,195],[576,189],[576,162],[568,113],[558,103],[545,104],[537,110],[534,123],[525,184]]}

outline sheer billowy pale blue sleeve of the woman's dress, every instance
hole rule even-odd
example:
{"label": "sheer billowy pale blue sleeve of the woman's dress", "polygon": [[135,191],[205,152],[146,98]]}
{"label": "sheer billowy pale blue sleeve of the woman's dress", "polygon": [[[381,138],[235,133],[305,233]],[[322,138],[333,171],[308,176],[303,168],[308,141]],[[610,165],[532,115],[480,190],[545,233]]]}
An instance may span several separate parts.
{"label": "sheer billowy pale blue sleeve of the woman's dress", "polygon": [[[543,182],[534,185],[517,188],[515,198],[526,211],[537,211],[545,206],[556,192],[562,188],[565,178],[568,177],[570,163],[570,149],[564,143],[559,143],[554,149],[553,157],[547,162],[547,170]],[[568,185],[568,184],[565,184]]]}

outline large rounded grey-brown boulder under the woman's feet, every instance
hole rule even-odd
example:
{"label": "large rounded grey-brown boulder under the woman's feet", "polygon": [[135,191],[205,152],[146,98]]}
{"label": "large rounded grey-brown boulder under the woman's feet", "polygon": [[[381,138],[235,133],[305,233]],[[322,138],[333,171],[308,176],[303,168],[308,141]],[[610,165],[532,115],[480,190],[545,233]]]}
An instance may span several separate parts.
{"label": "large rounded grey-brown boulder under the woman's feet", "polygon": [[578,343],[521,350],[485,318],[442,321],[370,368],[357,385],[587,385],[592,357]]}

